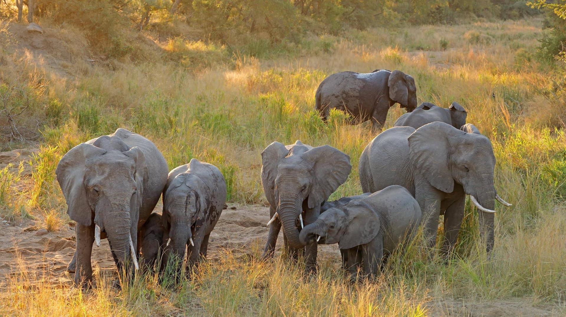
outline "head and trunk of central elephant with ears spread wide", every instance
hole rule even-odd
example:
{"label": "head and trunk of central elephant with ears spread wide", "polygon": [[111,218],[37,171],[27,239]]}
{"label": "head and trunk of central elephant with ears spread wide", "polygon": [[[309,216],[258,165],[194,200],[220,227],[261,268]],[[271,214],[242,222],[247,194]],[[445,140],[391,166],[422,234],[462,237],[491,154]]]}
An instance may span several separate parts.
{"label": "head and trunk of central elephant with ears spread wide", "polygon": [[299,249],[304,246],[298,229],[303,209],[320,206],[346,181],[350,157],[328,145],[310,149],[297,141],[288,150],[273,142],[261,153],[261,161],[267,183],[273,184],[269,203],[276,206],[289,244]]}

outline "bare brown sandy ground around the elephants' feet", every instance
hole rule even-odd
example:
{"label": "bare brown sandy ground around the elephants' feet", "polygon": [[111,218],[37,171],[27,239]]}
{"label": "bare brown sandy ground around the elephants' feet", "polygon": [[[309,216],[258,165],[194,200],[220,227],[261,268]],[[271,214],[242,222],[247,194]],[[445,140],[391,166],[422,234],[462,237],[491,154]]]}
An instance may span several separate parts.
{"label": "bare brown sandy ground around the elephants' feet", "polygon": [[[18,164],[29,160],[36,150],[24,149],[0,153],[0,168],[8,163]],[[24,171],[29,175],[29,171]],[[154,212],[161,212],[161,202]],[[226,252],[236,256],[251,254],[252,247],[263,250],[267,238],[269,209],[265,206],[228,204],[209,240],[208,259],[215,261]],[[46,232],[35,227],[32,220],[12,223],[0,219],[0,288],[11,275],[20,270],[18,262],[25,263],[28,272],[62,284],[72,284],[72,275],[66,272],[75,251],[75,224],[68,223],[57,232]],[[282,231],[277,250],[283,244]],[[20,261],[18,260],[20,259]],[[319,262],[340,265],[337,245],[319,246]],[[99,247],[93,246],[93,268],[103,275],[115,275],[115,266],[108,240]],[[561,316],[553,306],[533,306],[531,298],[512,298],[508,301],[478,302],[466,299],[441,298],[427,303],[430,316]]]}

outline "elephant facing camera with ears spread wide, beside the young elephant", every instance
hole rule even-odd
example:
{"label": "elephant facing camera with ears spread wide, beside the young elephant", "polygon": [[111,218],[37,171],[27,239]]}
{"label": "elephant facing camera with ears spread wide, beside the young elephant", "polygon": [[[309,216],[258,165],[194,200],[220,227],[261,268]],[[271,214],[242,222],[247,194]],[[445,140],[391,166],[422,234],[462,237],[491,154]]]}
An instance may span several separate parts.
{"label": "elephant facing camera with ears spread wide, beside the young elephant", "polygon": [[316,272],[316,243],[301,244],[299,228],[315,222],[321,205],[348,179],[350,157],[332,146],[312,147],[297,140],[287,146],[273,142],[261,153],[261,162],[261,184],[272,217],[263,256],[273,255],[282,225],[288,253],[297,258],[303,250],[306,270]]}

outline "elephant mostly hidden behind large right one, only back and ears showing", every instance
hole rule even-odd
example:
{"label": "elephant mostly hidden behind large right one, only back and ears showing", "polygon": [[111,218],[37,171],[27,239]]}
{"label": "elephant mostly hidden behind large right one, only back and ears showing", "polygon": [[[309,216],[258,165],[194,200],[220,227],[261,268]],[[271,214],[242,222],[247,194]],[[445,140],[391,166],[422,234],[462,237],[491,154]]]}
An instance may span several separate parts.
{"label": "elephant mostly hidden behind large right one, only back and ears showing", "polygon": [[395,121],[394,127],[413,127],[418,129],[427,123],[440,121],[460,129],[466,124],[468,113],[457,102],[452,102],[448,108],[442,108],[434,103],[423,102],[413,112],[403,114]]}

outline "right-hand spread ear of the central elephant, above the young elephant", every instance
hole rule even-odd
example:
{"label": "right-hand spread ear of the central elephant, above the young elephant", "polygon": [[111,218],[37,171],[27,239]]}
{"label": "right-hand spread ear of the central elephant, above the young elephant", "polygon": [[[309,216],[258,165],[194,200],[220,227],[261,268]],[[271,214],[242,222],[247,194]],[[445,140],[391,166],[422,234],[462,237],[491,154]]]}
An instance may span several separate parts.
{"label": "right-hand spread ear of the central elephant, above the young elephant", "polygon": [[320,206],[350,175],[350,157],[329,145],[310,149],[303,159],[312,166],[312,185],[308,208]]}

